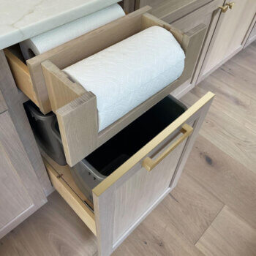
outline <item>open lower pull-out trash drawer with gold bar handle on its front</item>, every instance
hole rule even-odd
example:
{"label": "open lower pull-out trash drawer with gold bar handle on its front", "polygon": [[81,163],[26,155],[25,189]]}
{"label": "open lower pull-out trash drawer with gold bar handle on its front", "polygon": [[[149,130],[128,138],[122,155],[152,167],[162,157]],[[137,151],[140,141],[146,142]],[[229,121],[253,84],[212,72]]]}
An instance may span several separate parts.
{"label": "open lower pull-out trash drawer with gold bar handle on its front", "polygon": [[213,98],[208,92],[94,187],[94,213],[70,189],[64,167],[46,164],[53,186],[97,236],[99,255],[110,255],[176,187]]}

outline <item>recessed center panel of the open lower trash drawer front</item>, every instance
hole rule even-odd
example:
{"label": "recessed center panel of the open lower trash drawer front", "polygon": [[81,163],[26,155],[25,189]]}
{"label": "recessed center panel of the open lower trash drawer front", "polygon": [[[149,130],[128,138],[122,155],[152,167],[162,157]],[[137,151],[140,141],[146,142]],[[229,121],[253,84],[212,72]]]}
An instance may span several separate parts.
{"label": "recessed center panel of the open lower trash drawer front", "polygon": [[[155,148],[150,154],[151,157],[154,156],[154,159],[159,157],[171,143],[177,140],[177,133],[179,131],[170,135],[170,138],[167,139],[169,141],[164,143],[167,143],[167,146],[164,146],[156,155],[155,151],[158,151],[163,146],[163,143]],[[182,141],[153,170],[148,171],[145,167],[142,167],[142,160],[129,170],[129,175],[127,175],[125,182],[116,183],[116,198],[113,205],[115,209],[113,216],[114,247],[135,221],[140,221],[148,211],[151,211],[151,208],[157,205],[164,195],[170,192],[170,181],[173,178],[186,141]]]}

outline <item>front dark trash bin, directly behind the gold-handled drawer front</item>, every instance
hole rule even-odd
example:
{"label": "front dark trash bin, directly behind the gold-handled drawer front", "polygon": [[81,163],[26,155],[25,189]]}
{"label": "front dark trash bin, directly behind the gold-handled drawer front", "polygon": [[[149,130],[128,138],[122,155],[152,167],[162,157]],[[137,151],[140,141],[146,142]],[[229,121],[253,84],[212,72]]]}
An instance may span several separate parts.
{"label": "front dark trash bin, directly behind the gold-handled drawer front", "polygon": [[72,167],[72,176],[92,202],[92,189],[159,132],[181,116],[187,107],[168,96]]}

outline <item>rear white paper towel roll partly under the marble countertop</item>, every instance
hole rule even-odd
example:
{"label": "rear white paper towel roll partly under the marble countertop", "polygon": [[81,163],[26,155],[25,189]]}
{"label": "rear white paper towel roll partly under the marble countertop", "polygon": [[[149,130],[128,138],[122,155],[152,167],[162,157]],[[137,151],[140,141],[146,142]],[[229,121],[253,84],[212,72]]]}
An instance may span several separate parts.
{"label": "rear white paper towel roll partly under the marble countertop", "polygon": [[31,59],[35,55],[45,53],[64,42],[80,37],[82,34],[86,34],[124,15],[125,13],[121,6],[113,4],[110,7],[20,42],[20,49],[24,59]]}

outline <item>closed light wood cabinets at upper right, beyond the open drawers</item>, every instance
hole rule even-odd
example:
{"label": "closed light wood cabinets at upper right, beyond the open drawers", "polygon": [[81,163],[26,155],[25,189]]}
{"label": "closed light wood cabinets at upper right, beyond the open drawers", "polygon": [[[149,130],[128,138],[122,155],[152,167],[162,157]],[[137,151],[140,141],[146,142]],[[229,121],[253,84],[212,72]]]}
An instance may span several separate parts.
{"label": "closed light wood cabinets at upper right, beyond the open drawers", "polygon": [[255,0],[136,1],[136,7],[146,4],[153,7],[152,14],[182,31],[196,23],[208,26],[192,80],[172,93],[178,98],[256,39]]}

